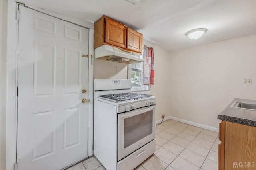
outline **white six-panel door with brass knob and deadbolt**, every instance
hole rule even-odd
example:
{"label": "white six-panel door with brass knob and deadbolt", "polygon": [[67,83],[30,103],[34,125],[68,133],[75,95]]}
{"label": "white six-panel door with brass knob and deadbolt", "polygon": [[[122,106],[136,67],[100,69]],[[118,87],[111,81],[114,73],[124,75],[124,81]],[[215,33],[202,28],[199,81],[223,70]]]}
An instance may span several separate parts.
{"label": "white six-panel door with brass knob and deadbolt", "polygon": [[20,6],[18,170],[58,170],[88,157],[88,35]]}

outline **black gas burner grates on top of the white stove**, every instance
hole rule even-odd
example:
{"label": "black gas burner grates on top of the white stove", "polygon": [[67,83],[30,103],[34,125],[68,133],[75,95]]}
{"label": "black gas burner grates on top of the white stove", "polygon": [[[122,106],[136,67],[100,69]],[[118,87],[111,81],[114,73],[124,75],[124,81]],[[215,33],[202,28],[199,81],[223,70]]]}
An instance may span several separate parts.
{"label": "black gas burner grates on top of the white stove", "polygon": [[152,95],[150,94],[140,94],[140,93],[118,93],[118,94],[107,94],[107,95],[100,95],[102,98],[108,98],[116,101],[124,101],[124,100],[131,100],[131,99],[139,99],[139,98],[147,98]]}

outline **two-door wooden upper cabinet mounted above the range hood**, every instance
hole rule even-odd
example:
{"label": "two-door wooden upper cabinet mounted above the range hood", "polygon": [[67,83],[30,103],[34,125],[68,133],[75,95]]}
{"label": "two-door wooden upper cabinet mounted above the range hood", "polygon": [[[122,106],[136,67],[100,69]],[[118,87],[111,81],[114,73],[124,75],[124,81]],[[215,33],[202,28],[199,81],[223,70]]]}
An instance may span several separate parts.
{"label": "two-door wooden upper cabinet mounted above the range hood", "polygon": [[142,34],[107,16],[102,16],[94,23],[94,49],[105,44],[141,53]]}

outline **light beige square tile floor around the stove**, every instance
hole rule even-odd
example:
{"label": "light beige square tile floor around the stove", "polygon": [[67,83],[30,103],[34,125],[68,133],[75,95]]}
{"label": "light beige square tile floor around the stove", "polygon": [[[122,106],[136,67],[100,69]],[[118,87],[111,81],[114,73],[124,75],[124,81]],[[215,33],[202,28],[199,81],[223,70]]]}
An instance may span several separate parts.
{"label": "light beige square tile floor around the stove", "polygon": [[[217,170],[218,133],[174,120],[156,126],[156,152],[135,170]],[[106,170],[95,156],[68,170]]]}

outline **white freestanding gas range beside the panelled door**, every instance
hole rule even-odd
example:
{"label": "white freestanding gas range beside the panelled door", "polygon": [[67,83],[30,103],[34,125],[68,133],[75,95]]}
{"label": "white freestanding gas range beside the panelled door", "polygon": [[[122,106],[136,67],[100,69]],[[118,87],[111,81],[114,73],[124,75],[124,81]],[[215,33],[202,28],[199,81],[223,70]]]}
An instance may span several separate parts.
{"label": "white freestanding gas range beside the panelled door", "polygon": [[131,87],[94,79],[94,155],[107,170],[132,170],[155,152],[156,97]]}

